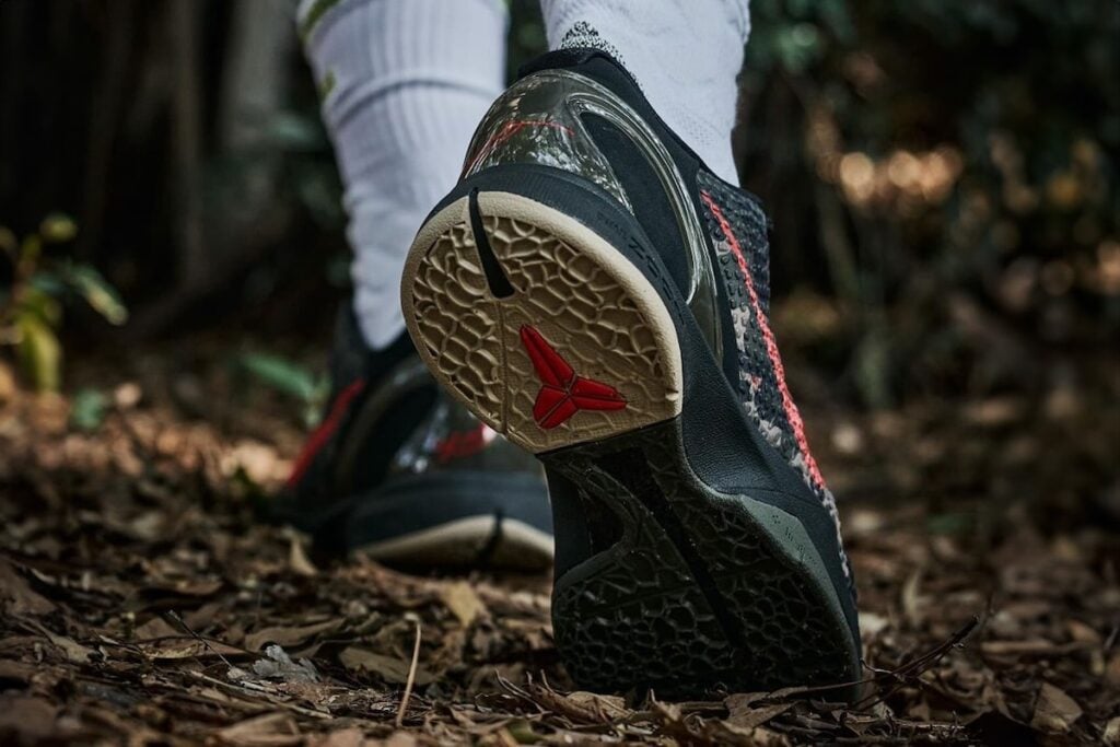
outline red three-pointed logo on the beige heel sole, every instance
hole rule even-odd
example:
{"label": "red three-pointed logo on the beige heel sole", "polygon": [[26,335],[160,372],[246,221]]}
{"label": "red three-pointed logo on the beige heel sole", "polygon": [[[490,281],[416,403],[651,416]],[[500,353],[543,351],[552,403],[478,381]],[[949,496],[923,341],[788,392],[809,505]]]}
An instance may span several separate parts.
{"label": "red three-pointed logo on the beige heel sole", "polygon": [[614,386],[577,376],[571,365],[529,325],[521,328],[521,342],[541,380],[533,403],[533,419],[548,430],[567,422],[580,410],[622,410],[626,400]]}

